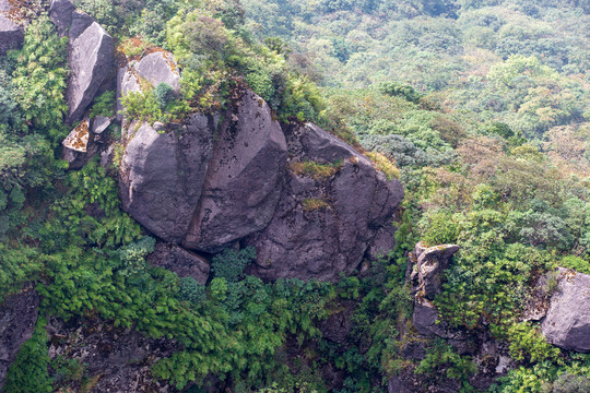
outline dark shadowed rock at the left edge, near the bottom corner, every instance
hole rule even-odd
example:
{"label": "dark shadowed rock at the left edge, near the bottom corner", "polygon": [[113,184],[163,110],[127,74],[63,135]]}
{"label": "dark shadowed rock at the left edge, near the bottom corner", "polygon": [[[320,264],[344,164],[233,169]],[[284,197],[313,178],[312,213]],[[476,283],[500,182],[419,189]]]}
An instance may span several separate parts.
{"label": "dark shadowed rock at the left edge, near the bottom corner", "polygon": [[0,390],[21,345],[33,336],[38,306],[39,296],[33,285],[10,296],[0,306]]}

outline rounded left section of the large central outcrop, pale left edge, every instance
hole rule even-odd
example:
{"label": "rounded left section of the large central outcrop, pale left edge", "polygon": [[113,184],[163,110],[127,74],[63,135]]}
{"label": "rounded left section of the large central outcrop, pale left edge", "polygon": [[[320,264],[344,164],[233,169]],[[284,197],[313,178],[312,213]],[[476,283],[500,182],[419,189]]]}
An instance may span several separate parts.
{"label": "rounded left section of the large central outcrop, pale left edge", "polygon": [[[134,126],[130,126],[133,132]],[[179,243],[201,196],[215,120],[194,115],[187,131],[158,133],[142,124],[129,138],[120,166],[123,209],[160,238]]]}

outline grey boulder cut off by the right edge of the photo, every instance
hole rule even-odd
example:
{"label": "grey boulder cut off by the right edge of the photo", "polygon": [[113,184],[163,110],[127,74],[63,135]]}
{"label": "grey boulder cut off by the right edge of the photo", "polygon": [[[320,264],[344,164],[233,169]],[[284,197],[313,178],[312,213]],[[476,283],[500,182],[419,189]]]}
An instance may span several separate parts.
{"label": "grey boulder cut off by the right edge of the photo", "polygon": [[566,269],[558,273],[542,332],[560,348],[590,353],[590,275]]}

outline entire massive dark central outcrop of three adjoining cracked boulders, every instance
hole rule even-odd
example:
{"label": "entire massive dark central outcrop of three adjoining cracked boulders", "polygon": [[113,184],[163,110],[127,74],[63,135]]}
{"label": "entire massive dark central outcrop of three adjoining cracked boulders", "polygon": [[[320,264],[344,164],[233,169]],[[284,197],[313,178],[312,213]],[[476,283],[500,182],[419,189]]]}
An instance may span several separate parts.
{"label": "entire massive dark central outcrop of three adjoining cracked boulders", "polygon": [[[119,96],[141,88],[137,75],[165,82],[169,73],[141,67],[146,59],[121,69]],[[250,273],[264,279],[352,273],[403,198],[401,183],[367,157],[315,124],[280,124],[249,90],[225,112],[170,128],[132,123],[123,132],[125,210],[186,249],[255,246]],[[381,252],[393,248],[381,238]]]}

